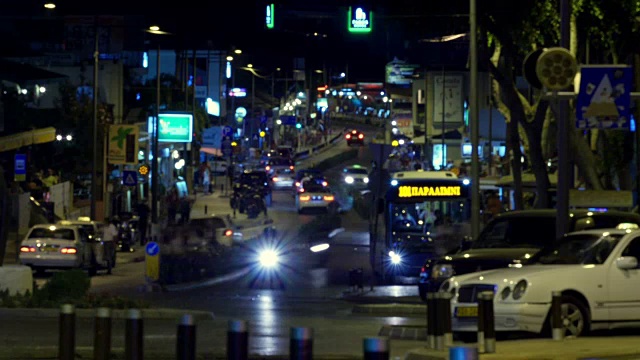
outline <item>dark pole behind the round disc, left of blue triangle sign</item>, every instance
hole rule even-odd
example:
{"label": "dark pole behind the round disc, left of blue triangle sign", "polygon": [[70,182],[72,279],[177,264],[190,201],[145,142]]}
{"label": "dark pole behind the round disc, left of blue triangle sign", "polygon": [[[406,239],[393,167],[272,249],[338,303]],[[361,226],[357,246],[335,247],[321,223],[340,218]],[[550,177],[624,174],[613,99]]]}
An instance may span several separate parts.
{"label": "dark pole behind the round disc, left of blue triangle sign", "polygon": [[[560,46],[569,49],[571,7],[569,0],[560,1]],[[569,103],[560,100],[558,104],[558,185],[556,197],[556,238],[560,239],[568,231],[569,225]],[[517,125],[516,125],[517,126]]]}

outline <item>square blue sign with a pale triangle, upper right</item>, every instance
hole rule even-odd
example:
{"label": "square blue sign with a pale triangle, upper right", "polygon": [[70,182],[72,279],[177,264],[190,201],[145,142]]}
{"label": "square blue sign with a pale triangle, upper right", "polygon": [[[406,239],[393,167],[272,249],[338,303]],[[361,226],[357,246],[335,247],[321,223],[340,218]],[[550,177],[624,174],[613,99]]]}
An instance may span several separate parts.
{"label": "square blue sign with a pale triangle, upper right", "polygon": [[626,65],[586,65],[580,73],[576,127],[629,129],[633,69]]}

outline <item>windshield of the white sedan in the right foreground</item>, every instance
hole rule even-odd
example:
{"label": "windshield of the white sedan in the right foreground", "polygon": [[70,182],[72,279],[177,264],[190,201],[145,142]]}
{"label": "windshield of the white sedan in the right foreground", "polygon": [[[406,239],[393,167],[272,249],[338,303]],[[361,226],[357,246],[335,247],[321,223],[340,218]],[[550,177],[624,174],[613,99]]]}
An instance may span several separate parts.
{"label": "windshield of the white sedan in the right foreground", "polygon": [[573,234],[547,246],[534,255],[529,263],[600,265],[618,244],[620,234]]}

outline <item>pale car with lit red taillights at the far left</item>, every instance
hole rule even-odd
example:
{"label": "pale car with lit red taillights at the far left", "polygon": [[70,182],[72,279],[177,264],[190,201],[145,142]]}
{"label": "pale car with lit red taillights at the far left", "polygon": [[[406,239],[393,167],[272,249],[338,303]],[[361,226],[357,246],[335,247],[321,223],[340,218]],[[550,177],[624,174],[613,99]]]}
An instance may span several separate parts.
{"label": "pale car with lit red taillights at the far left", "polygon": [[39,273],[79,268],[93,276],[99,268],[94,245],[96,242],[80,226],[39,224],[29,229],[20,243],[18,257],[22,265]]}

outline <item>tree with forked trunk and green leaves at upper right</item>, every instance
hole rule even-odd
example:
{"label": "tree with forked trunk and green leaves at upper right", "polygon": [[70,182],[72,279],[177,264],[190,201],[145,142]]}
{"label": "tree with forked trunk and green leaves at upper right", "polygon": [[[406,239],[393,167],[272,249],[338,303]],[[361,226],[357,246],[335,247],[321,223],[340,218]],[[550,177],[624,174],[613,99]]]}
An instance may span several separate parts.
{"label": "tree with forked trunk and green leaves at upper right", "polygon": [[[613,3],[613,4],[611,4]],[[547,194],[550,187],[546,159],[555,156],[547,144],[547,135],[555,133],[555,111],[540,92],[528,96],[516,86],[516,76],[520,75],[520,65],[524,57],[539,47],[557,46],[559,43],[558,1],[543,0],[535,2],[511,2],[498,0],[481,3],[481,28],[487,33],[487,46],[490,48],[488,68],[492,76],[494,100],[507,121],[515,124],[524,133],[525,149],[528,152],[531,168],[536,177],[536,191]],[[576,0],[573,2],[572,52],[577,52],[578,31],[576,23],[586,22],[585,42],[594,43],[596,48],[606,48],[609,54],[619,54],[613,39],[618,36],[631,38],[635,29],[608,26],[622,17],[622,23],[632,23],[638,5],[633,0],[616,0],[602,5],[595,0]],[[589,12],[585,14],[585,9]],[[622,13],[619,9],[626,9]],[[635,12],[633,11],[635,9]],[[595,14],[595,15],[594,15]],[[608,21],[609,19],[615,19]],[[594,36],[597,34],[598,36]],[[593,41],[592,41],[593,39]],[[489,52],[488,52],[489,53]],[[561,119],[568,121],[568,119]],[[519,177],[518,140],[514,139],[520,131],[510,133],[512,167],[516,189]],[[597,158],[589,144],[577,131],[570,131],[570,148],[573,161],[578,166],[587,185],[593,189],[602,189],[603,185],[597,172]],[[546,151],[545,151],[546,150]],[[516,194],[516,207],[521,208],[521,192]],[[538,196],[536,207],[548,207],[547,196]]]}

